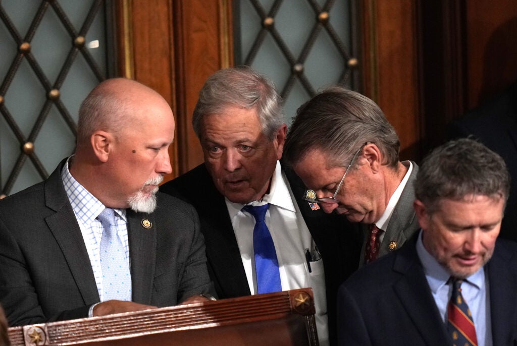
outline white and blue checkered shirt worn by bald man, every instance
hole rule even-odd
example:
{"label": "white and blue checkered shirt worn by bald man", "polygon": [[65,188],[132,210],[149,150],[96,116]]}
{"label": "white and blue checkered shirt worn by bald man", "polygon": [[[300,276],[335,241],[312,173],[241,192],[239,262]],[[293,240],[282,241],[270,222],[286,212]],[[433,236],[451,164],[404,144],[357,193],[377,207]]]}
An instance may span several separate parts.
{"label": "white and blue checkered shirt worn by bald man", "polygon": [[[72,156],[70,156],[70,158],[71,157]],[[86,245],[86,251],[88,251],[88,257],[94,271],[97,291],[99,292],[100,301],[102,302],[104,299],[102,294],[102,268],[100,265],[100,240],[103,228],[102,224],[97,219],[97,216],[104,210],[105,206],[72,177],[68,170],[68,162],[70,161],[70,158],[68,158],[63,170],[61,171],[61,178],[63,179],[63,185],[65,186],[68,200],[70,201],[73,212],[75,213],[75,218],[77,218],[79,227],[81,228],[81,234],[83,235],[84,244]],[[126,209],[114,210],[117,234],[122,240],[122,244],[126,250],[128,268],[131,270]]]}

